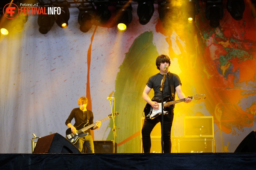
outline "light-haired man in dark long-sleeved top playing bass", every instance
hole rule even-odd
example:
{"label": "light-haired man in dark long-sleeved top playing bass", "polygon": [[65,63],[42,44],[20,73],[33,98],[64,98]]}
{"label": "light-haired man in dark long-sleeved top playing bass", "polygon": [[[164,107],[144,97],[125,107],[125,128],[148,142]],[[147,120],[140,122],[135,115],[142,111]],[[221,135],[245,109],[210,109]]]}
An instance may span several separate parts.
{"label": "light-haired man in dark long-sleeved top playing bass", "polygon": [[[87,126],[93,124],[93,113],[92,111],[89,111],[86,109],[87,104],[88,104],[88,99],[86,97],[79,98],[78,105],[80,107],[73,109],[68,119],[66,120],[66,125],[69,128],[71,128],[72,133],[77,133],[77,129],[75,127],[78,127],[83,122],[88,122]],[[71,121],[73,118],[75,118],[74,126],[71,125]],[[100,125],[101,125],[101,122],[96,121],[96,125],[91,127],[90,129],[91,130],[99,129]],[[93,145],[90,129],[85,131],[85,133],[88,133],[87,136],[79,138],[78,141],[74,144],[81,153],[83,150],[83,145],[85,145],[86,148],[88,149],[88,153],[94,153],[94,145]]]}

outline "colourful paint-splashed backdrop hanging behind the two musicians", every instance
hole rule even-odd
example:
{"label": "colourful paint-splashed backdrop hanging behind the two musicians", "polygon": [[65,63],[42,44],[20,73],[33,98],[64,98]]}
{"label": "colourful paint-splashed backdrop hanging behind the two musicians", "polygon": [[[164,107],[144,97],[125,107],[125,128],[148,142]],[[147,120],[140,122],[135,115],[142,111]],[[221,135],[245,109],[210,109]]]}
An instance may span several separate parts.
{"label": "colourful paint-splashed backdrop hanging behind the two musicians", "polygon": [[[182,1],[176,2],[178,8]],[[157,4],[146,25],[138,22],[137,4],[132,6],[133,20],[124,32],[117,31],[112,14],[106,24],[82,33],[79,11],[71,7],[66,29],[55,24],[47,34],[40,34],[37,16],[30,15],[21,32],[0,37],[0,153],[31,153],[32,133],[65,136],[65,121],[81,96],[89,99],[94,121],[113,109],[119,113],[118,153],[141,152],[146,105],[142,92],[148,78],[158,72],[159,54],[170,56],[169,70],[180,76],[186,96],[206,96],[175,105],[173,138],[184,136],[185,116],[214,117],[216,152],[234,152],[255,130],[256,22],[249,2],[240,21],[224,9],[217,28],[209,26],[203,2],[196,22],[181,20],[181,8],[169,29],[162,26]],[[113,140],[112,129],[112,119],[102,122],[94,140]]]}

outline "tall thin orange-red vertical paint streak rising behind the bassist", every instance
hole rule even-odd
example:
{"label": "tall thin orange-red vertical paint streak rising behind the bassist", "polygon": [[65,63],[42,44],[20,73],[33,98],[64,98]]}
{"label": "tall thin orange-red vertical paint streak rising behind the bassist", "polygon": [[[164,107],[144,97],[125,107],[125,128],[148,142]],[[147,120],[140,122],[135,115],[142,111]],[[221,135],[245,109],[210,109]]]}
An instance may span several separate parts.
{"label": "tall thin orange-red vertical paint streak rising behind the bassist", "polygon": [[[91,100],[91,91],[90,91],[90,64],[91,64],[91,50],[92,50],[92,41],[94,38],[94,34],[96,32],[97,26],[95,27],[92,37],[91,44],[88,48],[87,52],[87,84],[86,84],[86,97],[88,99],[87,109],[92,110],[92,100]],[[92,139],[94,140],[94,133],[91,131]]]}

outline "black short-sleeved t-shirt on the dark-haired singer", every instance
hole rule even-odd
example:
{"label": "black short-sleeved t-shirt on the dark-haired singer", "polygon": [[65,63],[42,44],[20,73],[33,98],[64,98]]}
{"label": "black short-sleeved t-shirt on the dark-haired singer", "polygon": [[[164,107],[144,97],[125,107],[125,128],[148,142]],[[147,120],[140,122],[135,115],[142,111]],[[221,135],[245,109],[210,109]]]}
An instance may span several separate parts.
{"label": "black short-sleeved t-shirt on the dark-haired singer", "polygon": [[[162,92],[160,91],[161,82],[163,79],[163,74],[157,73],[151,76],[147,82],[147,86],[154,90],[154,97],[153,99],[161,100],[162,99]],[[163,89],[163,97],[172,96],[170,91],[170,85],[168,84],[168,78],[170,77],[170,72],[167,73],[166,79],[164,81],[164,89]],[[174,89],[181,85],[180,77],[177,74],[173,73],[173,83]],[[174,92],[173,92],[174,93]],[[174,94],[175,95],[175,94]]]}

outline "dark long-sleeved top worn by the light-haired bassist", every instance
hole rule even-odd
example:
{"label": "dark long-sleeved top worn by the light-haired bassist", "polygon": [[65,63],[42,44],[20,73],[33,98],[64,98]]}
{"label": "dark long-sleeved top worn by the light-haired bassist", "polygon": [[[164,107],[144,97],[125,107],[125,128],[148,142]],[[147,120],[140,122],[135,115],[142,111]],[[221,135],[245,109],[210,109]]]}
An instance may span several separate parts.
{"label": "dark long-sleeved top worn by the light-haired bassist", "polygon": [[[65,124],[68,125],[69,123],[71,123],[72,119],[75,118],[75,124],[74,127],[78,127],[81,123],[83,122],[87,122],[87,112],[89,113],[89,123],[86,126],[92,125],[93,124],[93,113],[90,110],[87,110],[83,113],[83,111],[81,111],[80,108],[75,108],[71,111],[68,119],[66,120]],[[85,126],[85,127],[86,127]],[[93,130],[93,127],[90,128],[91,130]],[[90,129],[86,130],[85,132],[90,133]],[[77,129],[78,130],[78,129]]]}

